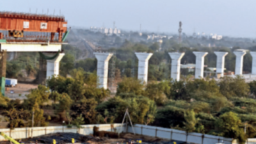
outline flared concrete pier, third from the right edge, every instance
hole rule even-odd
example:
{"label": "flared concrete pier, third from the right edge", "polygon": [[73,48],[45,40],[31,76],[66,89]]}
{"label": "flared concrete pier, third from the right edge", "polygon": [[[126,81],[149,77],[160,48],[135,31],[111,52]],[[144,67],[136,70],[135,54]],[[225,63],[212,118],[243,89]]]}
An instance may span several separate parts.
{"label": "flared concrete pier, third from the right edge", "polygon": [[228,52],[214,51],[217,56],[216,62],[216,75],[220,74],[220,77],[224,76],[225,56]]}

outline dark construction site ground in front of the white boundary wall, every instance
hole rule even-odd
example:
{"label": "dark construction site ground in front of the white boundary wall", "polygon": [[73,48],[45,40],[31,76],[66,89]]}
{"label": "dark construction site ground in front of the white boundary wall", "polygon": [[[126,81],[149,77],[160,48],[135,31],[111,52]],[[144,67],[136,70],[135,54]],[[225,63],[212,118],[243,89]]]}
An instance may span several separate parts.
{"label": "dark construction site ground in front of the white boundary wall", "polygon": [[[172,142],[167,140],[161,140],[159,138],[152,138],[149,136],[142,136],[142,135],[134,135],[131,133],[121,133],[120,138],[112,139],[112,138],[99,138],[99,137],[93,137],[92,134],[83,135],[83,134],[77,134],[72,132],[64,132],[64,133],[52,133],[52,134],[46,134],[43,136],[37,136],[34,138],[26,138],[22,139],[22,142],[24,143],[52,143],[52,140],[56,140],[57,144],[61,143],[71,143],[71,139],[74,138],[76,140],[76,143],[90,143],[90,144],[116,144],[116,143],[124,143],[126,144],[129,140],[136,140],[136,139],[142,139],[142,143],[155,143],[155,144],[171,144]],[[0,144],[9,144],[9,141],[0,141]]]}

